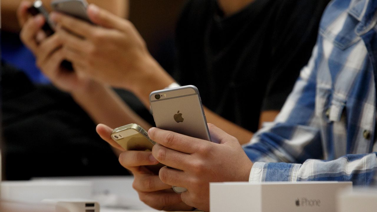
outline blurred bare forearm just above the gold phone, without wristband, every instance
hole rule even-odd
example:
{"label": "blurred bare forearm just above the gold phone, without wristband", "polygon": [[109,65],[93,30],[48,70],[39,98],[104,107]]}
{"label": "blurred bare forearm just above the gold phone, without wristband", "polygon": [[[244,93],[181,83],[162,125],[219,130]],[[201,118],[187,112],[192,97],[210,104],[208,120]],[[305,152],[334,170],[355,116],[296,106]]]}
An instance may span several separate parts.
{"label": "blurred bare forearm just above the gold phone, without wristband", "polygon": [[95,123],[103,123],[111,128],[129,123],[137,123],[146,130],[151,127],[109,86],[92,81],[87,88],[72,92],[72,97]]}

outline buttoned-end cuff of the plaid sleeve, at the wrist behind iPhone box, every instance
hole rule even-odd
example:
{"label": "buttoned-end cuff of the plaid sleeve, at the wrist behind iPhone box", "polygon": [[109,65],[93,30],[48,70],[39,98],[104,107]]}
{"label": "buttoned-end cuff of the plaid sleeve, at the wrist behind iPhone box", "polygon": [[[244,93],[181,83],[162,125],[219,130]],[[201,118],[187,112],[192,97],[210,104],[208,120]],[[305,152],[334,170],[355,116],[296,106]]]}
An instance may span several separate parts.
{"label": "buttoned-end cuff of the plaid sleeve, at the wrist behind iPhone box", "polygon": [[256,162],[250,171],[249,182],[296,182],[301,164]]}

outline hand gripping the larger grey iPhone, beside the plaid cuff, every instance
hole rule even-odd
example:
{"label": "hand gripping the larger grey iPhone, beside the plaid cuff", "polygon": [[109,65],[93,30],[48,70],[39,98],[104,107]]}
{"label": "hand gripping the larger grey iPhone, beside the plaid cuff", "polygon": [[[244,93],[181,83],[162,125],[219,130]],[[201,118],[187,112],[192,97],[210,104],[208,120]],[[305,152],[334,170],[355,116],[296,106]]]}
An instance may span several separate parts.
{"label": "hand gripping the larger grey iPhone, beside the plaid cuff", "polygon": [[198,209],[209,211],[209,183],[248,181],[253,163],[245,154],[238,140],[213,124],[208,124],[211,139],[201,140],[150,128],[149,137],[156,141],[152,155],[167,166],[162,167],[162,182],[185,187],[182,201]]}

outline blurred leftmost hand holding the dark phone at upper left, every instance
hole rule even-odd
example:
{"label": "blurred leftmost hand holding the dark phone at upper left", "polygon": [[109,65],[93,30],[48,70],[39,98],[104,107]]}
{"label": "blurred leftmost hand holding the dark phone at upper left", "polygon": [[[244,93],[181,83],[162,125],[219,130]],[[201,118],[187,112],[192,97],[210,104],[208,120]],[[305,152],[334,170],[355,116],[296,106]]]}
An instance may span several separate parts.
{"label": "blurred leftmost hand holding the dark phone at upper left", "polygon": [[[22,27],[20,38],[35,55],[37,66],[63,91],[73,92],[86,88],[90,83],[89,78],[61,66],[65,59],[61,49],[62,41],[56,34],[46,37],[41,29],[46,20],[42,15],[31,17],[27,11],[30,6],[30,2],[21,2],[17,16]],[[74,64],[74,68],[77,65]]]}

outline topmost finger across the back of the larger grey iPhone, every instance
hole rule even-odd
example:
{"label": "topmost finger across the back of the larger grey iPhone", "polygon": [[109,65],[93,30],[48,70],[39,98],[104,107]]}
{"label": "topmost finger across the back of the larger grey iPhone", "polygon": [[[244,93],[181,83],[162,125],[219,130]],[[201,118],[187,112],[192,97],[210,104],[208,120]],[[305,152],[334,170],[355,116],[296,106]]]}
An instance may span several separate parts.
{"label": "topmost finger across the back of the larger grey iPhone", "polygon": [[162,146],[187,154],[197,152],[202,146],[203,142],[210,142],[158,128],[150,128],[148,135],[152,140],[156,141]]}

